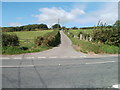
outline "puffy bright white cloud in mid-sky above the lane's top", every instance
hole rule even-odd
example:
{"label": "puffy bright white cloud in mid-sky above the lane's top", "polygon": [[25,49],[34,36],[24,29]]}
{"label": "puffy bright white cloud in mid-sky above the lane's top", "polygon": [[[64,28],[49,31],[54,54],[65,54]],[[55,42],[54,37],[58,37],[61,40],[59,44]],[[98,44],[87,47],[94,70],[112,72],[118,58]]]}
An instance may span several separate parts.
{"label": "puffy bright white cloud in mid-sky above the lane's top", "polygon": [[49,25],[55,24],[60,19],[60,23],[68,23],[77,19],[77,16],[85,14],[85,12],[79,8],[72,9],[71,11],[65,11],[62,8],[41,8],[39,15],[33,15],[38,18],[39,23],[47,23]]}

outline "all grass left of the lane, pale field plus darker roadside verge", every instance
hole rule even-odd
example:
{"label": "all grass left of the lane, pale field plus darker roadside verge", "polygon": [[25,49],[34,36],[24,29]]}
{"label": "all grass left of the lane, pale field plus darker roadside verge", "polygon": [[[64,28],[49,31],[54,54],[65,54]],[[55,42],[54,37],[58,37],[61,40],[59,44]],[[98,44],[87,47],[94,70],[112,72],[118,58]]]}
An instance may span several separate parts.
{"label": "all grass left of the lane, pale field plus darker roadside verge", "polygon": [[[16,34],[19,37],[20,46],[14,47],[3,47],[2,54],[21,54],[21,53],[31,53],[39,52],[50,49],[52,47],[48,46],[38,46],[35,47],[34,39],[37,36],[44,36],[45,34],[52,32],[53,30],[46,31],[24,31],[24,32],[5,32],[7,34]],[[26,50],[22,50],[26,49]]]}

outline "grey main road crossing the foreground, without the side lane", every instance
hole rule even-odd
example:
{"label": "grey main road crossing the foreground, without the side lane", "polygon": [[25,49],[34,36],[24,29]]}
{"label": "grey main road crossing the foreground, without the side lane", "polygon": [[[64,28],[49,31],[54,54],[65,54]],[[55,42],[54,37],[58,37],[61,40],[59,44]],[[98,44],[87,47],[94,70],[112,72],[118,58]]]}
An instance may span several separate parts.
{"label": "grey main road crossing the foreground, without the side lane", "polygon": [[117,57],[5,59],[3,88],[107,88],[118,83]]}

